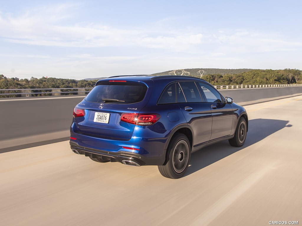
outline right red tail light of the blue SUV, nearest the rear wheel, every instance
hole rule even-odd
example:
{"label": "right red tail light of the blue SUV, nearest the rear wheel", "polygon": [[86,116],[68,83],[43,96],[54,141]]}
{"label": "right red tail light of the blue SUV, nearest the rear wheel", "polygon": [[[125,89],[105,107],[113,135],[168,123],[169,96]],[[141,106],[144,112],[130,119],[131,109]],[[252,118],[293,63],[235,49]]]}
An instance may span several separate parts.
{"label": "right red tail light of the blue SUV, nearest the rear wheel", "polygon": [[120,117],[120,121],[140,126],[152,125],[159,119],[159,114],[123,113]]}

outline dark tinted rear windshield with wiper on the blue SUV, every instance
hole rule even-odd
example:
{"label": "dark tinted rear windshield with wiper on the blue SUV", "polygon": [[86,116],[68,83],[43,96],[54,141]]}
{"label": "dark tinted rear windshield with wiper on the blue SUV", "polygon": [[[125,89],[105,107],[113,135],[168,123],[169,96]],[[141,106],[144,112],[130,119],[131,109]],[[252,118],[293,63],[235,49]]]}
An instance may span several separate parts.
{"label": "dark tinted rear windshield with wiper on the blue SUV", "polygon": [[131,82],[103,82],[95,86],[85,100],[96,103],[133,104],[144,99],[147,86]]}

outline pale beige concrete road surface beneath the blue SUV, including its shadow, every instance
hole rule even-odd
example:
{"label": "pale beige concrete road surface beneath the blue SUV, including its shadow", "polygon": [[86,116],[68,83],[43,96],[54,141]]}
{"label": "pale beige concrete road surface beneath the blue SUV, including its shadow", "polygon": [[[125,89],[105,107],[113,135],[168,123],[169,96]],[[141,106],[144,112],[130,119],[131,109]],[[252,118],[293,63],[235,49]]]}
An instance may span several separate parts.
{"label": "pale beige concrete road surface beneath the blue SUV, including its shadow", "polygon": [[302,224],[302,96],[246,110],[245,145],[193,153],[178,180],[93,162],[68,141],[1,153],[0,225]]}

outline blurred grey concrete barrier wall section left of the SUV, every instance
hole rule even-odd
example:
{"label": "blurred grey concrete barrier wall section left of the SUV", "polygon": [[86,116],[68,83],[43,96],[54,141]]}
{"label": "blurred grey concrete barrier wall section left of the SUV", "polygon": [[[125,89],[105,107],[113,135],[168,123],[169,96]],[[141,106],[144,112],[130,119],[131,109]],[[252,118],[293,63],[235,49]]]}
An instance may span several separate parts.
{"label": "blurred grey concrete barrier wall section left of the SUV", "polygon": [[83,98],[0,99],[0,153],[67,140],[73,109]]}

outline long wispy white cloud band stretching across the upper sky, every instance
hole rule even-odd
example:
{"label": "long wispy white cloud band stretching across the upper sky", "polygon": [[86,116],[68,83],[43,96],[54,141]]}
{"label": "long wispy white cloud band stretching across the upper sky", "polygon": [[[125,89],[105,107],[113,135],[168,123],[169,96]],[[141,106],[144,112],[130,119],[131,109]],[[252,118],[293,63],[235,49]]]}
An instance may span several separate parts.
{"label": "long wispy white cloud band stretching across the upper sky", "polygon": [[72,11],[77,7],[66,3],[27,10],[20,16],[0,14],[1,35],[6,42],[37,46],[133,46],[186,53],[200,53],[205,49],[211,53],[289,51],[302,45],[284,41],[279,34],[248,30],[218,30],[210,34],[213,31],[209,28],[202,29],[202,33],[200,28],[192,27],[188,30],[174,26],[168,30],[160,23],[153,23],[148,29],[125,29],[91,22],[64,24],[66,18],[76,17]]}

